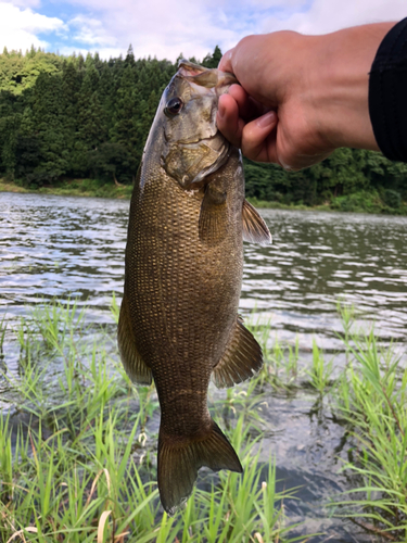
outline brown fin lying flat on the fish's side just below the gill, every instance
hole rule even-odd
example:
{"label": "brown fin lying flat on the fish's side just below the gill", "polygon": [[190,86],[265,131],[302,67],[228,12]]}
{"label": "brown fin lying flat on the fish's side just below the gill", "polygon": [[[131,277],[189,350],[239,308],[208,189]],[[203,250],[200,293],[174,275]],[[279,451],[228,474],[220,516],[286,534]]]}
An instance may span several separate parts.
{"label": "brown fin lying flat on the fish's side just below the gill", "polygon": [[216,244],[225,238],[227,227],[226,192],[216,184],[209,184],[201,204],[200,240],[206,244]]}

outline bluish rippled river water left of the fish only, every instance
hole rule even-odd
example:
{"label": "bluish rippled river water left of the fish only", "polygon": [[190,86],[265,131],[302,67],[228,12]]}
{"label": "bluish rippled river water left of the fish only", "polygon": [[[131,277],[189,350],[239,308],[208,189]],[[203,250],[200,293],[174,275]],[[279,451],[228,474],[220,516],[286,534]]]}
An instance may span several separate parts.
{"label": "bluish rippled river water left of the fish only", "polygon": [[128,202],[0,194],[1,305],[24,313],[38,299],[79,296],[103,319],[122,292]]}

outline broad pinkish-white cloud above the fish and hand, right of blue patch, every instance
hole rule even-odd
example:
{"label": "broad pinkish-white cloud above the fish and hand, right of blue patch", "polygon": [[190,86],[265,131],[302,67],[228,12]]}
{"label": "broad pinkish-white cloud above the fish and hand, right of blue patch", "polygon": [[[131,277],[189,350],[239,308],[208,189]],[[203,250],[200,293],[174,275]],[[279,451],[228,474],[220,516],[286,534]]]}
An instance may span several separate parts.
{"label": "broad pinkish-white cloud above the fish and hand, right of blue patch", "polygon": [[[180,52],[202,59],[222,51],[247,34],[291,28],[322,34],[407,15],[406,0],[68,0],[90,16],[75,17],[75,37],[91,50],[126,52],[136,58],[175,60]],[[72,22],[72,23],[73,23]],[[93,23],[92,23],[93,22]]]}

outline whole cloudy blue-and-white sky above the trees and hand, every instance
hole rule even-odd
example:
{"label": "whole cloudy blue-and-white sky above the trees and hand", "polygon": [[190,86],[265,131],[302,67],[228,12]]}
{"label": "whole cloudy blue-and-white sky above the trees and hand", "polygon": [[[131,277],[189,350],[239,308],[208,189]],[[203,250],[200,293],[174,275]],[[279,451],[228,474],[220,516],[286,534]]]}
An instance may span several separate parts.
{"label": "whole cloudy blue-and-white sky above the trees and hand", "polygon": [[407,0],[0,0],[0,51],[202,60],[250,34],[326,34],[407,16]]}

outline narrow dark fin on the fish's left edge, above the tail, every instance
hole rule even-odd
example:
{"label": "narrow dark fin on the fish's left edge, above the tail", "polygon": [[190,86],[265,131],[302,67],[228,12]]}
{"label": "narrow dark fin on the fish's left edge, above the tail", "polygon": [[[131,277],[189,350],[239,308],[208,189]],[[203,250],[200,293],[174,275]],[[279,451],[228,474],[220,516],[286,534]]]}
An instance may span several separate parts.
{"label": "narrow dark fin on the fish's left edge, above the tail", "polygon": [[123,296],[118,318],[117,343],[123,365],[130,379],[138,384],[151,384],[153,374],[137,350],[135,332],[130,321],[130,307],[126,294]]}

